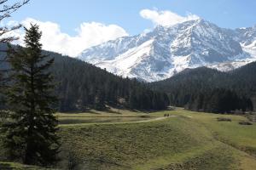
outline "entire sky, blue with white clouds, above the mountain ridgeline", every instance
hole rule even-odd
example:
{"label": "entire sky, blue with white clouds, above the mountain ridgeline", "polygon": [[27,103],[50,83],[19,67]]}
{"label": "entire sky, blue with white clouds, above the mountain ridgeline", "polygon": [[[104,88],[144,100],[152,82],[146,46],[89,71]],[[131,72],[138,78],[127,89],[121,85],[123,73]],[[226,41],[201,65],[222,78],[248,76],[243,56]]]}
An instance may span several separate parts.
{"label": "entire sky, blue with white clouds, above the mountain ridgeline", "polygon": [[[102,42],[196,16],[225,28],[254,26],[255,7],[255,0],[31,0],[10,20],[37,23],[44,49],[75,57]],[[15,33],[22,45],[24,32]]]}

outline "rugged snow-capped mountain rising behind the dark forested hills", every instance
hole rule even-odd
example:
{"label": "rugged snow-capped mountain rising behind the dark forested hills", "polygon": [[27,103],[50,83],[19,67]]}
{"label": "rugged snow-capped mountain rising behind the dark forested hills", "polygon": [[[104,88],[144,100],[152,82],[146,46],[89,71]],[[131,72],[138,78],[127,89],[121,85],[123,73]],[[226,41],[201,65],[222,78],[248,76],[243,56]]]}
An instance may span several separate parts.
{"label": "rugged snow-capped mountain rising behind the dark forested hills", "polygon": [[255,27],[233,31],[189,20],[104,42],[78,58],[119,76],[154,82],[186,68],[204,65],[228,71],[256,60],[255,35]]}

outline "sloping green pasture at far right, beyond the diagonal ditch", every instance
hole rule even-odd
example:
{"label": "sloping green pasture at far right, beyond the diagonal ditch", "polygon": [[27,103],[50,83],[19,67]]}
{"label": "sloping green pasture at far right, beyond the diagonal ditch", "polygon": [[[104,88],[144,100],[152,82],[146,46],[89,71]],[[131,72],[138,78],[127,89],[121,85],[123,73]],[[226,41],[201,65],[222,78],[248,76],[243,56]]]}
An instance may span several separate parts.
{"label": "sloping green pasture at far right, beyond the diagonal ditch", "polygon": [[[190,111],[179,112],[181,115],[191,116],[196,121],[201,122],[215,139],[256,156],[256,124],[254,123],[252,126],[239,124],[240,121],[247,121],[246,117]],[[218,117],[230,118],[231,122],[217,122]]]}

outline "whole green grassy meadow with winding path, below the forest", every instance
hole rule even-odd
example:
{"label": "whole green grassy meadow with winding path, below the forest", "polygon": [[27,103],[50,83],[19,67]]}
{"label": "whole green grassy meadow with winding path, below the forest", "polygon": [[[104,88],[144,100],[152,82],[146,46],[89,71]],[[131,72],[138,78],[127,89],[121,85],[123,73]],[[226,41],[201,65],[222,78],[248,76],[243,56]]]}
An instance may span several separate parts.
{"label": "whole green grassy meadow with winding path, below the forest", "polygon": [[[240,125],[245,116],[183,109],[56,116],[62,144],[59,169],[256,169],[256,123]],[[218,122],[218,117],[231,122]]]}

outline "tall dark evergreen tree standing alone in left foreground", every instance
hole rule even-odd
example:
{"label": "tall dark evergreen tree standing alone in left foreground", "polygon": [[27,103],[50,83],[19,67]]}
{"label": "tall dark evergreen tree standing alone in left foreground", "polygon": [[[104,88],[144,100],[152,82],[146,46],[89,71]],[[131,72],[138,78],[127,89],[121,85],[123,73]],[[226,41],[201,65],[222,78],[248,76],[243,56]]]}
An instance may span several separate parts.
{"label": "tall dark evergreen tree standing alone in left foreground", "polygon": [[53,77],[48,71],[54,59],[42,54],[42,32],[37,25],[26,29],[25,48],[9,48],[11,85],[7,93],[10,122],[3,124],[4,145],[12,159],[26,164],[48,165],[59,149]]}

